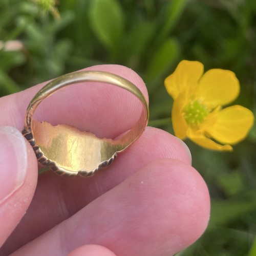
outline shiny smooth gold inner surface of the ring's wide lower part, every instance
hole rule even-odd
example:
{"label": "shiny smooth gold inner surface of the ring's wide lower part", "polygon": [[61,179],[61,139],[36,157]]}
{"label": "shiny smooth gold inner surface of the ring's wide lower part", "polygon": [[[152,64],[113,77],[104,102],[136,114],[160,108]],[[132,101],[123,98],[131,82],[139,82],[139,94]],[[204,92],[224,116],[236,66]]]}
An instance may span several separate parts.
{"label": "shiny smooth gold inner surface of the ring's wide lower part", "polygon": [[[143,111],[144,112],[144,111]],[[145,115],[117,140],[98,138],[76,127],[32,120],[31,132],[35,144],[46,157],[60,169],[71,173],[91,172],[100,165],[108,165],[118,152],[124,151],[143,132]]]}

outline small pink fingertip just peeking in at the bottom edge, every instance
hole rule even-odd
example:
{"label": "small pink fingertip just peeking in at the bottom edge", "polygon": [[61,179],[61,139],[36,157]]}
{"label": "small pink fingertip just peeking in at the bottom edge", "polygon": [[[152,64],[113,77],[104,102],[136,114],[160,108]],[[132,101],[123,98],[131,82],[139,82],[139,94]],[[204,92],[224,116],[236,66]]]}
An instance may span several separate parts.
{"label": "small pink fingertip just peeking in at the bottom edge", "polygon": [[83,245],[68,254],[68,256],[115,256],[110,249],[95,244]]}

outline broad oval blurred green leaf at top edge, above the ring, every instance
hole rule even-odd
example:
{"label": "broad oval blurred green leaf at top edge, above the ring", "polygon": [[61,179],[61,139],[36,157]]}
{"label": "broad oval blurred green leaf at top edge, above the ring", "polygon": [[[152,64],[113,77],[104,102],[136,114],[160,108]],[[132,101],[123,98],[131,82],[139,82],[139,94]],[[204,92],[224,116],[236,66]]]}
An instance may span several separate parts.
{"label": "broad oval blurred green leaf at top edge, above the ring", "polygon": [[113,50],[124,30],[124,14],[116,0],[93,0],[89,9],[91,28],[98,40]]}

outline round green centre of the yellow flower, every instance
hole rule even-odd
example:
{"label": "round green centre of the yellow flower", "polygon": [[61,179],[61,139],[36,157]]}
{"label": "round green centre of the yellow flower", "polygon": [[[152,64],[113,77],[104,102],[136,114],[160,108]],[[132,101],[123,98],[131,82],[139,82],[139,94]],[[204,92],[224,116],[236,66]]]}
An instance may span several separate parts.
{"label": "round green centre of the yellow flower", "polygon": [[209,114],[209,110],[198,100],[189,102],[183,109],[184,118],[188,125],[202,123]]}

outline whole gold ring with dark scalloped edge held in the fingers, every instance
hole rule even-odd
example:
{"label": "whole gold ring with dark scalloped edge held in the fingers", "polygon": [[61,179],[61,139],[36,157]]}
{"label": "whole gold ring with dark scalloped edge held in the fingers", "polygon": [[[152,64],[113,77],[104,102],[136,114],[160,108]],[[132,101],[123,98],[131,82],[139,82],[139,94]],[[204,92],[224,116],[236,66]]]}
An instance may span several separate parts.
{"label": "whole gold ring with dark scalloped edge held in the fingers", "polygon": [[[121,87],[134,94],[142,103],[141,116],[132,129],[117,139],[100,139],[77,128],[33,120],[37,106],[57,90],[78,82],[102,82]],[[148,122],[148,104],[141,91],[130,81],[108,72],[80,71],[60,76],[43,87],[30,101],[23,128],[24,137],[30,142],[37,161],[49,166],[62,176],[91,176],[98,169],[110,165],[118,153],[123,152],[144,131]]]}

